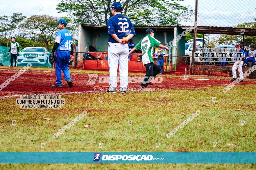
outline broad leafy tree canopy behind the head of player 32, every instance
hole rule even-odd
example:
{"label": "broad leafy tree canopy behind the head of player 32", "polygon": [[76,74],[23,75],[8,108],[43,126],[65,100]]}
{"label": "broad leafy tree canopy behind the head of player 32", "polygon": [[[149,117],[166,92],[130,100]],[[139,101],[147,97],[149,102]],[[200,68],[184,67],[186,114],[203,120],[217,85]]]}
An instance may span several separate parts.
{"label": "broad leafy tree canopy behind the head of player 32", "polygon": [[[59,0],[58,12],[67,12],[75,19],[75,23],[89,25],[107,25],[112,17],[109,7],[113,0]],[[115,0],[116,1],[116,0]],[[127,16],[134,25],[171,26],[179,25],[180,21],[191,21],[193,10],[178,2],[183,0],[120,0],[122,14]]]}

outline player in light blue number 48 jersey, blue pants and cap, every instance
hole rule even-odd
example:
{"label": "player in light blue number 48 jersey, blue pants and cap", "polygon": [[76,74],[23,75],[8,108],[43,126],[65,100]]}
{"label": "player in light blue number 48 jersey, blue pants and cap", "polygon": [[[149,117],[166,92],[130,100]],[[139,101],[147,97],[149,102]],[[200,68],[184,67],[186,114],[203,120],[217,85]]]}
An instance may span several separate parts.
{"label": "player in light blue number 48 jersey, blue pants and cap", "polygon": [[73,41],[72,34],[67,30],[67,22],[65,19],[56,21],[58,23],[58,29],[56,40],[52,49],[52,53],[55,53],[56,63],[54,65],[56,83],[51,87],[62,87],[61,82],[61,70],[63,71],[65,81],[68,86],[73,87],[72,78],[70,78],[70,72],[68,69],[69,60],[74,60],[73,56]]}

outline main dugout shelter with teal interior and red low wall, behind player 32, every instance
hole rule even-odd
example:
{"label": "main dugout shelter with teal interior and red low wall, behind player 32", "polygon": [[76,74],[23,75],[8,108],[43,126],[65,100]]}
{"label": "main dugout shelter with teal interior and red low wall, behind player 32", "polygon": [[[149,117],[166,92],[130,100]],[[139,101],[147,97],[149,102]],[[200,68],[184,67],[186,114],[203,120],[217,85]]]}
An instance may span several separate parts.
{"label": "main dugout shelter with teal interior and red low wall, behind player 32", "polygon": [[[107,26],[94,26],[79,24],[78,35],[78,52],[77,53],[77,68],[84,67],[86,70],[108,70],[108,61],[104,61],[107,57],[108,51],[108,31]],[[169,46],[172,49],[173,56],[185,55],[185,41],[186,37],[182,36],[179,41],[175,41],[177,36],[181,34],[184,29],[181,26],[172,27],[134,27],[136,36],[132,38],[134,44],[137,44],[141,39],[145,37],[145,31],[147,28],[152,28],[156,34],[154,37],[159,40],[163,45]],[[171,43],[173,41],[173,43]],[[84,60],[84,53],[89,51],[89,46],[92,45],[97,49],[97,53],[91,55],[99,60]],[[174,48],[173,48],[174,46]],[[170,52],[167,52],[170,54]],[[138,54],[139,55],[139,54]],[[138,55],[132,55],[129,61],[129,72],[144,72],[142,62],[138,62]],[[179,64],[184,64],[184,57],[172,57],[172,63],[169,65],[169,60],[165,59],[164,72],[172,72],[176,70]],[[166,64],[168,65],[166,67]],[[166,70],[167,68],[167,70]]]}

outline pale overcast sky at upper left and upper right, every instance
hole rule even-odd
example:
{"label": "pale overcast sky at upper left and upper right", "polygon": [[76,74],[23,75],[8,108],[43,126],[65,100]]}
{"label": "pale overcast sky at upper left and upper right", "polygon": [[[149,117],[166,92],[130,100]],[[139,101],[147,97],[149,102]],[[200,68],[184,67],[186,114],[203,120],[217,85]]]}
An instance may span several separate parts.
{"label": "pale overcast sky at upper left and upper right", "polygon": [[[20,12],[27,17],[33,14],[48,14],[55,17],[67,16],[66,12],[58,13],[56,10],[58,3],[58,0],[4,1],[0,4],[0,16],[11,15],[15,12]],[[184,0],[179,3],[195,9],[195,0]],[[231,0],[198,0],[198,19],[203,19],[201,26],[233,27],[244,22],[252,22],[253,18],[256,17],[255,3],[256,0],[239,4]],[[182,22],[180,24],[192,25],[193,23]]]}

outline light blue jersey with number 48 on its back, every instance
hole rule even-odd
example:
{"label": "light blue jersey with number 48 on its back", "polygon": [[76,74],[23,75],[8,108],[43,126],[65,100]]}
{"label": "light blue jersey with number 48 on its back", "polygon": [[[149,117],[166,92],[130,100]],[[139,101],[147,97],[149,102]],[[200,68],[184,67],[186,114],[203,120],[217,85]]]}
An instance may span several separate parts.
{"label": "light blue jersey with number 48 on its back", "polygon": [[61,29],[57,32],[55,42],[60,43],[57,50],[71,51],[72,34],[67,29]]}

